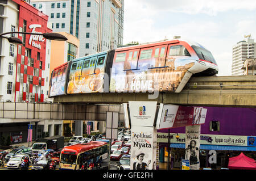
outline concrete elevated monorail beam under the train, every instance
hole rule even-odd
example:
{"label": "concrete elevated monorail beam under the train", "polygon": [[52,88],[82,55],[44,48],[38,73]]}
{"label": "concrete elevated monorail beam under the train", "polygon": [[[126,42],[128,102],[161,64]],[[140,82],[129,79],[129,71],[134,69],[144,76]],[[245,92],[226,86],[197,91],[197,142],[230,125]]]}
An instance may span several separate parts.
{"label": "concrete elevated monorail beam under the train", "polygon": [[180,93],[109,92],[54,98],[55,103],[63,104],[121,104],[129,100],[184,106],[255,107],[256,76],[192,77]]}

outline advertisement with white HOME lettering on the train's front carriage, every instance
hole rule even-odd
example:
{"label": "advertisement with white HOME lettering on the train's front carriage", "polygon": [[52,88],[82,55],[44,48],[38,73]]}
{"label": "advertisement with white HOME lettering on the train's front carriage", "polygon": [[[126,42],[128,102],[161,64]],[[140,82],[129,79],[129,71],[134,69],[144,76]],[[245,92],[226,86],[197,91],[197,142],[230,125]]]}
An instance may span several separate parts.
{"label": "advertisement with white HOME lettering on the train's front carriage", "polygon": [[164,57],[152,58],[152,53],[142,50],[138,62],[127,58],[127,53],[115,54],[110,92],[175,91],[195,64],[185,56],[169,56],[165,62]]}

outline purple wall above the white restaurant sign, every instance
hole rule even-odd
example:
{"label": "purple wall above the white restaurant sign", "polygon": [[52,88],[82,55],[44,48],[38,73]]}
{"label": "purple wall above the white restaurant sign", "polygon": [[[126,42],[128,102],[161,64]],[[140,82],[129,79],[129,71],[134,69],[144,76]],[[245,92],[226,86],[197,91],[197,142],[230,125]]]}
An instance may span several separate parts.
{"label": "purple wall above the white restaurant sign", "polygon": [[[204,107],[207,108],[201,134],[256,136],[256,108]],[[220,132],[210,131],[210,121],[220,121]],[[158,132],[168,133],[168,129]],[[185,133],[185,127],[172,128],[171,133]]]}

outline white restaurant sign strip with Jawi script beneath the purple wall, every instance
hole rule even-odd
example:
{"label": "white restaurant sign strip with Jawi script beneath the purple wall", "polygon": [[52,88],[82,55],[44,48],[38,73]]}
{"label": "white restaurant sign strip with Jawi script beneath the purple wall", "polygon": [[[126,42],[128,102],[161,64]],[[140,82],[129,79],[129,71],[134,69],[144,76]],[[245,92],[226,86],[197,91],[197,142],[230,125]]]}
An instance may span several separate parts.
{"label": "white restaurant sign strip with Jawi script beneath the purple wall", "polygon": [[[253,142],[255,138],[253,136],[201,134],[200,142],[203,145],[256,146]],[[170,137],[171,143],[184,144],[185,140],[186,135],[184,133],[179,133],[179,138]],[[158,142],[168,142],[168,133],[158,133]]]}

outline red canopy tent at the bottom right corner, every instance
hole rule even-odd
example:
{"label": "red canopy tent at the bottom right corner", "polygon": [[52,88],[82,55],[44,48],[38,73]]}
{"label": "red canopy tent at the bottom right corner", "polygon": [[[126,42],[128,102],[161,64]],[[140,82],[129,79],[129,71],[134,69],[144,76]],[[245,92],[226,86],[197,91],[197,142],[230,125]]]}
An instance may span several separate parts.
{"label": "red canopy tent at the bottom right corner", "polygon": [[246,157],[243,153],[237,157],[229,158],[229,169],[256,170],[256,162],[253,158]]}

